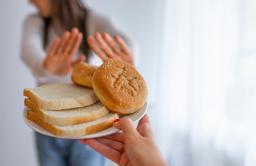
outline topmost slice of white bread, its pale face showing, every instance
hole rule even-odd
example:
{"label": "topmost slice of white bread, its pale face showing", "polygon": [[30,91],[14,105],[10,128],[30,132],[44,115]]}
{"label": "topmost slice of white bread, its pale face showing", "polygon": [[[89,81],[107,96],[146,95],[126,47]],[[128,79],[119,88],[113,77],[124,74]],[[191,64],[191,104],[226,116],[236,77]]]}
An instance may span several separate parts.
{"label": "topmost slice of white bread, its pale face showing", "polygon": [[91,87],[74,83],[27,88],[23,94],[45,110],[79,108],[99,100]]}

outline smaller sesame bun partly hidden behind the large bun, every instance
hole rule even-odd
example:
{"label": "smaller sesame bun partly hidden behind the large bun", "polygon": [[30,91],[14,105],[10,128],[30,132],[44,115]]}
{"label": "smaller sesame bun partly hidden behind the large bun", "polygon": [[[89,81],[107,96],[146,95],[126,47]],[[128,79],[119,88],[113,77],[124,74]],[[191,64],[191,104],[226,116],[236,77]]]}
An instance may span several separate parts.
{"label": "smaller sesame bun partly hidden behind the large bun", "polygon": [[93,66],[88,63],[75,65],[71,74],[72,82],[92,87],[92,76],[97,68],[97,66]]}

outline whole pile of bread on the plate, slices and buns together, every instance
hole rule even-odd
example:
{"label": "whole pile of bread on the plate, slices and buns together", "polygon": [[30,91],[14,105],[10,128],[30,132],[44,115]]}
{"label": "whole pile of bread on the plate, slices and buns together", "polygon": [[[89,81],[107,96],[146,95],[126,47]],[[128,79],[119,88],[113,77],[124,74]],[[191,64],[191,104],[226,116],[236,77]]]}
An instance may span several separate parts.
{"label": "whole pile of bread on the plate, slices and buns together", "polygon": [[77,138],[110,128],[118,114],[137,112],[148,96],[144,78],[120,60],[99,67],[78,64],[71,80],[74,83],[24,89],[25,106],[31,109],[27,119],[57,137]]}

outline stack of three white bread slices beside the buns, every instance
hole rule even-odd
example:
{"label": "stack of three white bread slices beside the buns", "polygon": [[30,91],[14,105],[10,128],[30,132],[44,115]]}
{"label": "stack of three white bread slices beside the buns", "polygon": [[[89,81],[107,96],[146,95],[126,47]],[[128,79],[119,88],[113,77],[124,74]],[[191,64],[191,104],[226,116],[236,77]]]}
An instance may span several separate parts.
{"label": "stack of three white bread slices beside the buns", "polygon": [[99,101],[91,87],[74,83],[24,89],[27,119],[57,137],[77,138],[106,130],[118,118]]}

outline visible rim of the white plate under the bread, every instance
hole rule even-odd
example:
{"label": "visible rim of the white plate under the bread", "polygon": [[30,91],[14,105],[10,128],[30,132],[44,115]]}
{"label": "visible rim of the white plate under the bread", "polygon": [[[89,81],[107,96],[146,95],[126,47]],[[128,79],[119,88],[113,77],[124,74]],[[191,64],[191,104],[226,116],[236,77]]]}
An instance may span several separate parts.
{"label": "visible rim of the white plate under the bread", "polygon": [[[148,109],[148,103],[146,101],[146,103],[143,105],[143,107],[141,109],[139,109],[137,112],[130,114],[130,115],[126,115],[126,116],[122,116],[119,115],[119,118],[124,118],[124,117],[128,117],[130,118],[134,123],[138,122],[147,112]],[[30,127],[31,129],[35,130],[36,132],[39,132],[43,135],[46,136],[51,136],[51,137],[56,137],[54,136],[51,132],[45,130],[44,128],[38,126],[36,123],[30,121],[27,119],[27,111],[29,109],[27,107],[24,108],[23,110],[23,120],[25,121],[25,123],[28,125],[28,127]],[[107,130],[103,130],[91,135],[86,135],[86,136],[82,136],[82,137],[77,137],[77,138],[72,138],[72,139],[86,139],[86,138],[96,138],[96,137],[103,137],[103,136],[107,136],[110,134],[113,134],[115,132],[120,131],[119,129],[115,128],[115,127],[111,127]],[[58,137],[61,138],[61,137]]]}

